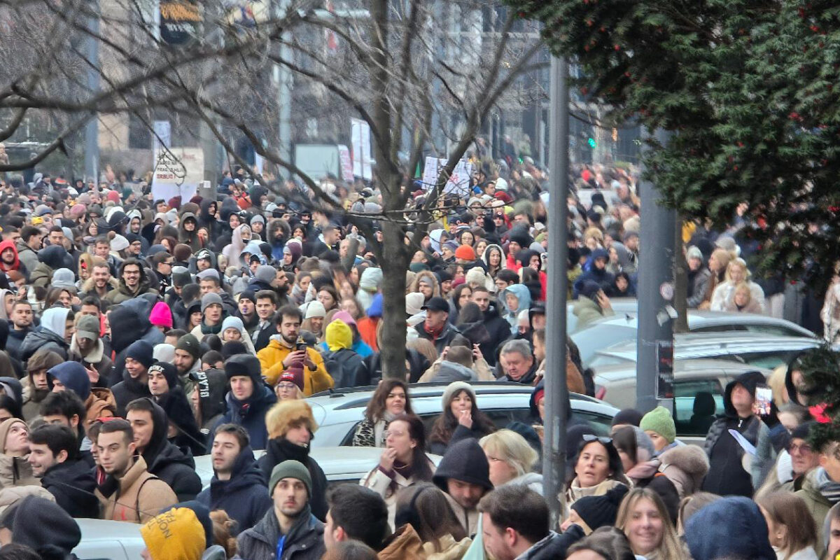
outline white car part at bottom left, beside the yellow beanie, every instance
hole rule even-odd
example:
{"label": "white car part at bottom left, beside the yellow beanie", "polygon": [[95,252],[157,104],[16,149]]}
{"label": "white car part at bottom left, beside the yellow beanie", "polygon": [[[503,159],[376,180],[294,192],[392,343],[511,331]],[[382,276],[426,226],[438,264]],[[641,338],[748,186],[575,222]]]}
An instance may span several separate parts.
{"label": "white car part at bottom left, beside the yellow beanie", "polygon": [[146,547],[138,523],[104,519],[76,519],[81,529],[81,542],[73,553],[85,558],[137,560]]}

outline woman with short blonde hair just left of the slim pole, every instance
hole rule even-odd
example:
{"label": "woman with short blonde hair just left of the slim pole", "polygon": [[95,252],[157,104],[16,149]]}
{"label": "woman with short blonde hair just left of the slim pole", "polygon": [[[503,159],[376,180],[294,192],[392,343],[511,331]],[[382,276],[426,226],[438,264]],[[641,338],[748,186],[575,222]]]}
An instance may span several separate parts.
{"label": "woman with short blonde hair just left of the slim pole", "polygon": [[532,471],[539,454],[524,437],[512,430],[499,430],[482,437],[479,445],[490,464],[490,481],[494,487],[524,484],[543,495],[543,475]]}

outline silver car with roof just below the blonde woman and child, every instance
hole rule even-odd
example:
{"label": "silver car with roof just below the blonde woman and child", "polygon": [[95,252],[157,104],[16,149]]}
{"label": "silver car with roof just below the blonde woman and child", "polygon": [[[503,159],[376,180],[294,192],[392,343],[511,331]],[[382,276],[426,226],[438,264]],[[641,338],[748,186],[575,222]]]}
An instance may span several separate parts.
{"label": "silver car with roof just below the blonde woman and child", "polygon": [[[795,322],[752,313],[690,310],[688,328],[690,332],[731,333],[732,336],[756,332],[771,337],[816,339],[813,332]],[[636,342],[638,313],[616,311],[616,315],[593,322],[570,336],[580,351],[580,360],[589,367],[598,350],[617,343]]]}

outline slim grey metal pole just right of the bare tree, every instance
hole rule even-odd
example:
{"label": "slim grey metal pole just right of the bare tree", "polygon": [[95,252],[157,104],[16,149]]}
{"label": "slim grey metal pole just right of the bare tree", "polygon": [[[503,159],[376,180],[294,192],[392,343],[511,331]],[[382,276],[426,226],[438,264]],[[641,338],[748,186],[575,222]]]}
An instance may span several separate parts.
{"label": "slim grey metal pole just right of the bare tree", "polygon": [[565,514],[566,420],[569,390],[566,388],[566,275],[569,248],[569,66],[564,59],[551,59],[549,106],[549,290],[546,329],[545,421],[543,435],[543,484],[555,530]]}

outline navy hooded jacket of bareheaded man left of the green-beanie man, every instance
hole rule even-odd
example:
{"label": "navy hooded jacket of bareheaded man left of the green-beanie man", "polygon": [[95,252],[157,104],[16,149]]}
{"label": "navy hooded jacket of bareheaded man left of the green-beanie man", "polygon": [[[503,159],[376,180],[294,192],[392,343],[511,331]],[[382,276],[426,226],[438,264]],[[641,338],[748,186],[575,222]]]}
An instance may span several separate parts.
{"label": "navy hooded jacket of bareheaded man left of the green-beanie man", "polygon": [[210,486],[196,496],[196,501],[209,510],[225,510],[236,521],[236,532],[255,526],[274,504],[250,447],[239,452],[230,479],[219,480],[213,474]]}

